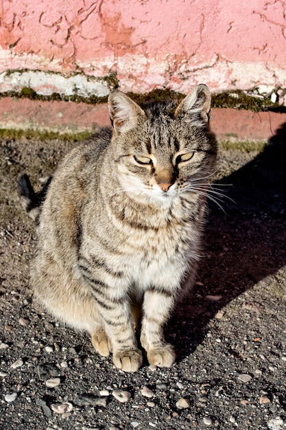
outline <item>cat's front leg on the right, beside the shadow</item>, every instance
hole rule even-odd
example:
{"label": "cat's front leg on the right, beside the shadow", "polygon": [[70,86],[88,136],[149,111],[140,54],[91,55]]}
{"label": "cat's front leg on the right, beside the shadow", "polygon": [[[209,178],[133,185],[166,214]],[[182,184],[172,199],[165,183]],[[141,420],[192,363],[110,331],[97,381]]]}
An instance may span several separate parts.
{"label": "cat's front leg on the right, beside the shadow", "polygon": [[158,367],[170,367],[176,359],[173,346],[163,335],[164,324],[173,307],[174,296],[169,292],[156,289],[145,292],[140,340],[147,360]]}

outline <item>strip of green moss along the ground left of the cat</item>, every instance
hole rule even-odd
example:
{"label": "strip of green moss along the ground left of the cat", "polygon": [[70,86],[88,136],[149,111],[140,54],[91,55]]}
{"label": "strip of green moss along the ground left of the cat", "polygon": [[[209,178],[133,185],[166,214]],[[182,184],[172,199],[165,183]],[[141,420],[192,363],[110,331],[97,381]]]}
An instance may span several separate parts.
{"label": "strip of green moss along the ground left of the cat", "polygon": [[32,128],[28,130],[0,128],[0,139],[38,139],[38,140],[54,140],[82,142],[91,135],[90,132],[84,131],[81,133],[59,133],[56,131],[38,131]]}

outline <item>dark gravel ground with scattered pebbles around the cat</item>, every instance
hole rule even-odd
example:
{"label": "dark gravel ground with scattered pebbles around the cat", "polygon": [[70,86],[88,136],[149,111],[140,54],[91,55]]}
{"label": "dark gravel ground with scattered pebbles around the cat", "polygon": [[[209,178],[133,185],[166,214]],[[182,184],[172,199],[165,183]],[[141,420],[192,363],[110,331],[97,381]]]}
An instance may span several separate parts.
{"label": "dark gravel ground with scattered pebbles around the cat", "polygon": [[284,149],[222,150],[224,212],[211,203],[198,281],[166,327],[176,363],[126,374],[32,301],[35,229],[16,179],[39,188],[69,147],[0,142],[0,428],[285,430]]}

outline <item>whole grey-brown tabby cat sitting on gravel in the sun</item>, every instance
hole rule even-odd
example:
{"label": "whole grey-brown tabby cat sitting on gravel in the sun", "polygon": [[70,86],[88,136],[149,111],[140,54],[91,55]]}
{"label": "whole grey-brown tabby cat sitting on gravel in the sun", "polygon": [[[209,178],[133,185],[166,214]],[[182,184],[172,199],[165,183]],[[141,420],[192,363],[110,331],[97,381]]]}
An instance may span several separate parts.
{"label": "whole grey-brown tabby cat sitting on gravel in the sun", "polygon": [[38,223],[34,296],[119,369],[141,367],[137,337],[149,363],[169,367],[163,328],[195,278],[215,168],[211,93],[200,84],[180,104],[139,106],[113,91],[108,106],[112,128],[71,150],[45,199],[19,180]]}

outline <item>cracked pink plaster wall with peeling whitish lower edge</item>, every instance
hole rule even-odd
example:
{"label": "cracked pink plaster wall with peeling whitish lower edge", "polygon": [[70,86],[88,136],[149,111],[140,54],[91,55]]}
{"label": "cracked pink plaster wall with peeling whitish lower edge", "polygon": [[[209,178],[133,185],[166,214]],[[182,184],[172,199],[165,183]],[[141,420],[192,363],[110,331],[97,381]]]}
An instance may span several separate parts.
{"label": "cracked pink plaster wall with peeling whitish lower edge", "polygon": [[285,15],[282,0],[2,0],[0,91],[106,95],[110,71],[123,91],[286,89]]}

